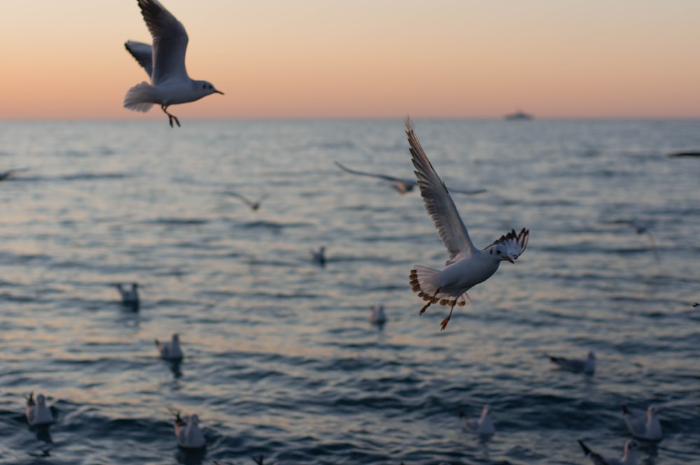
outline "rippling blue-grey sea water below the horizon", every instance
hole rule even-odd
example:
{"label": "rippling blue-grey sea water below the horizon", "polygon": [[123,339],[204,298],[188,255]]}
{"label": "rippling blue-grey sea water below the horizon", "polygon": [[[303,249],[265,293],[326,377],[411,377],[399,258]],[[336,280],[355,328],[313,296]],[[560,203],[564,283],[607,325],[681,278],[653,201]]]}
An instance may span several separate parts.
{"label": "rippling blue-grey sea water below the horizon", "polygon": [[[651,403],[641,463],[697,461],[700,159],[666,153],[700,121],[414,120],[449,186],[487,189],[454,195],[477,247],[531,230],[442,332],[408,284],[446,258],[419,193],[333,164],[411,177],[401,120],[182,123],[0,122],[0,170],[27,168],[0,183],[0,463],[585,464],[577,439],[620,457],[620,406]],[[179,366],[153,344],[172,333]],[[589,350],[590,377],[545,356]],[[458,416],[485,403],[490,440]]]}

